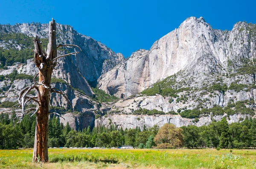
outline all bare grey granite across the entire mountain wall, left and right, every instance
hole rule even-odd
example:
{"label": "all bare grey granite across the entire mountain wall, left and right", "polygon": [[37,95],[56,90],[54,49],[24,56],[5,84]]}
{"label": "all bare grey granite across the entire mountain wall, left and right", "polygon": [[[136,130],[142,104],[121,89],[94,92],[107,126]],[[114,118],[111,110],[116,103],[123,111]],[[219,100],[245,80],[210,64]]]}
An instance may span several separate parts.
{"label": "all bare grey granite across the entire mountain wall, left and right", "polygon": [[[39,23],[0,25],[0,35],[19,33],[47,38],[48,27],[48,24]],[[250,64],[254,67],[256,59],[256,25],[253,24],[239,22],[232,31],[221,31],[212,29],[202,17],[189,17],[179,28],[154,42],[149,51],[140,49],[128,59],[91,37],[79,34],[69,25],[57,24],[57,35],[58,43],[75,44],[82,49],[76,56],[61,58],[52,75],[59,79],[52,87],[67,93],[71,107],[58,94],[51,95],[51,104],[66,110],[73,108],[74,113],[62,112],[64,119],[60,118],[60,121],[64,125],[69,122],[76,130],[110,124],[123,129],[143,129],[144,125],[152,127],[155,124],[161,127],[165,123],[178,127],[202,126],[219,121],[224,116],[228,116],[231,123],[247,115],[236,112],[234,115],[201,116],[195,123],[194,119],[170,115],[168,112],[215,105],[227,107],[230,101],[256,100],[255,69],[249,71],[246,67]],[[15,39],[0,39],[0,48],[24,50],[28,46]],[[67,52],[60,50],[58,54]],[[245,69],[241,71],[241,68]],[[15,70],[31,76],[38,72],[33,59],[28,59],[26,64],[16,62],[6,69],[0,69],[0,75],[8,76]],[[166,80],[167,77],[169,79]],[[179,90],[175,93],[177,96],[138,95],[163,79],[166,83],[173,82],[168,86],[172,89],[187,90]],[[0,102],[17,101],[20,90],[31,84],[32,80],[29,79],[3,79],[0,81]],[[99,89],[121,100],[99,104],[90,98],[93,91],[89,84],[98,85]],[[209,91],[214,84],[227,86],[226,89]],[[239,90],[232,88],[232,84],[240,85]],[[36,94],[36,91],[33,92]],[[134,115],[135,110],[140,108],[155,109],[166,114]],[[12,109],[0,108],[0,112],[10,114]],[[96,114],[102,117],[97,116],[96,119]]]}

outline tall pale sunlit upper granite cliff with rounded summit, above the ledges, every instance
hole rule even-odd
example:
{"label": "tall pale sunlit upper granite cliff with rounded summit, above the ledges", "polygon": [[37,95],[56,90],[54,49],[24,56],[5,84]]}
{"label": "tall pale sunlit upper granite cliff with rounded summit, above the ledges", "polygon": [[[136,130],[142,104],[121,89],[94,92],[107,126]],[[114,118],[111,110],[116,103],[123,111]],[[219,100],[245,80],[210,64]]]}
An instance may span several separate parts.
{"label": "tall pale sunlit upper granite cliff with rounded summit, above the ledges", "polygon": [[189,17],[154,42],[149,51],[136,51],[102,74],[98,87],[127,98],[175,73],[177,82],[184,81],[183,87],[201,88],[204,83],[215,82],[217,76],[229,85],[234,78],[226,74],[236,72],[242,59],[256,57],[255,32],[253,24],[239,22],[232,31],[221,31],[212,29],[202,17]]}

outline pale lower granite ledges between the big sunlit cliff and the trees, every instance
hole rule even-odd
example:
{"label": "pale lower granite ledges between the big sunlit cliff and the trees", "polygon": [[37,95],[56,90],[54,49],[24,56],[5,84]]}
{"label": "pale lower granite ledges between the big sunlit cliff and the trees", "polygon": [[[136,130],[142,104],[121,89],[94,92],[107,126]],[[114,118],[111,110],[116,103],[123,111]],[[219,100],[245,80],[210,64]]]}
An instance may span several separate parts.
{"label": "pale lower granite ledges between the big sunlit cliff and the trees", "polygon": [[[198,96],[199,97],[199,96]],[[228,123],[238,122],[250,117],[250,115],[242,115],[236,113],[234,115],[214,115],[202,116],[198,122],[195,119],[182,118],[180,115],[168,115],[169,111],[177,111],[177,109],[188,107],[189,104],[176,103],[173,101],[169,103],[171,97],[157,96],[140,96],[125,100],[119,100],[113,104],[103,104],[101,107],[102,112],[108,112],[108,115],[102,116],[95,120],[95,126],[110,126],[111,124],[117,127],[136,128],[140,127],[143,130],[145,127],[153,127],[157,125],[162,127],[166,123],[175,124],[177,127],[196,125],[198,127],[203,125],[209,125],[212,121],[221,121],[223,117],[227,118]],[[240,98],[245,100],[247,98]],[[216,103],[218,100],[216,99]],[[191,103],[190,103],[191,104]],[[166,113],[165,115],[133,115],[134,110],[139,108],[145,108],[148,110],[158,110]]]}

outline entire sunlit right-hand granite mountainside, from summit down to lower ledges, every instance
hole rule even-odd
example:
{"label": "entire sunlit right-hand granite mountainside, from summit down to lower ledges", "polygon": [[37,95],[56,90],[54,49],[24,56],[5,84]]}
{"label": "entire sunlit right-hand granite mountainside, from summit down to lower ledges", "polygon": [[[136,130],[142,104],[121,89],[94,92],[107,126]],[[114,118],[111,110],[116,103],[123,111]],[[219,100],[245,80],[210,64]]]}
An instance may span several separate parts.
{"label": "entire sunlit right-hand granite mountainside, from summit down to lower ledges", "polygon": [[[107,106],[107,110],[103,107],[102,111],[126,115],[102,117],[96,119],[96,125],[109,125],[111,121],[123,128],[152,127],[154,124],[169,122],[170,117],[175,117],[175,121],[170,122],[177,126],[201,126],[212,120],[219,121],[227,115],[201,117],[197,123],[192,123],[192,120],[179,115],[132,114],[139,108],[168,113],[215,105],[227,107],[230,102],[243,100],[255,101],[255,72],[248,67],[250,64],[254,67],[255,47],[254,24],[239,22],[232,31],[221,31],[212,29],[202,17],[189,17],[179,28],[154,42],[149,51],[140,49],[134,52],[126,61],[99,77],[100,89],[123,99],[111,107]],[[241,68],[244,70],[241,71]],[[172,89],[188,89],[178,91],[176,97],[138,96],[138,93],[163,79]],[[226,89],[215,88],[209,92],[214,84]],[[240,88],[232,87],[232,84]],[[239,113],[230,115],[229,123],[245,117]]]}

